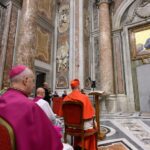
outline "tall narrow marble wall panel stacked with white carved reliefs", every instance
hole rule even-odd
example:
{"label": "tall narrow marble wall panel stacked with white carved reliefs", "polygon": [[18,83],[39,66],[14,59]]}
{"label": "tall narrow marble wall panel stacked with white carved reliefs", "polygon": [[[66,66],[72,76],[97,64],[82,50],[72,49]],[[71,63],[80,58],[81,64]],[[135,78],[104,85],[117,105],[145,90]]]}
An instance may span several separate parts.
{"label": "tall narrow marble wall panel stacked with white carved reliefs", "polygon": [[69,88],[69,0],[60,1],[56,50],[56,89]]}

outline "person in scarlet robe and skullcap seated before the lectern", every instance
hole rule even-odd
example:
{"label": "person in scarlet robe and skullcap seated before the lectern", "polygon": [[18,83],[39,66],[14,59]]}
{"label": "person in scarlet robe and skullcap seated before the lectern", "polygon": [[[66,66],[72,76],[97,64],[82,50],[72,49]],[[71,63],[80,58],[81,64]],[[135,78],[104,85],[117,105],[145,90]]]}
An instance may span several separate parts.
{"label": "person in scarlet robe and skullcap seated before the lectern", "polygon": [[[80,82],[78,79],[74,79],[71,81],[71,88],[72,88],[72,92],[70,94],[68,94],[65,98],[64,101],[81,101],[83,103],[83,119],[90,119],[92,117],[95,116],[95,111],[94,108],[91,104],[90,99],[88,98],[88,96],[86,96],[85,94],[82,94],[80,92]],[[84,123],[84,130],[90,130],[93,129],[93,120],[89,120],[86,121]],[[84,140],[84,147],[86,150],[96,150],[96,136],[92,135],[89,137],[86,137]],[[80,147],[82,147],[81,145],[81,140],[79,139],[75,139],[75,143],[76,145],[79,145]]]}

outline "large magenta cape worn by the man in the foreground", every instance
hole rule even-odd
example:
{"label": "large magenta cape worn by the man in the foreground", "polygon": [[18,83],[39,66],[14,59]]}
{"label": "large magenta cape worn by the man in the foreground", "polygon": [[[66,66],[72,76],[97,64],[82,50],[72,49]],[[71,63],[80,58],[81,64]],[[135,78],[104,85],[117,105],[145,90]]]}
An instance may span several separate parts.
{"label": "large magenta cape worn by the man in the foreground", "polygon": [[44,112],[18,90],[0,97],[0,116],[13,127],[17,150],[62,150],[61,139]]}

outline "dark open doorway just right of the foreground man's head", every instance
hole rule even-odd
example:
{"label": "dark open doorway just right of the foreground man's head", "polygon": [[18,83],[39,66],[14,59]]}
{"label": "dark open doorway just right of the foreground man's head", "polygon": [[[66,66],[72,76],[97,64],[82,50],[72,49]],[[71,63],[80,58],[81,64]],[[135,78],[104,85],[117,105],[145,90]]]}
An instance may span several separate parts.
{"label": "dark open doorway just right of the foreground man's head", "polygon": [[38,87],[43,87],[43,83],[45,82],[46,79],[46,73],[44,72],[36,72],[36,89]]}

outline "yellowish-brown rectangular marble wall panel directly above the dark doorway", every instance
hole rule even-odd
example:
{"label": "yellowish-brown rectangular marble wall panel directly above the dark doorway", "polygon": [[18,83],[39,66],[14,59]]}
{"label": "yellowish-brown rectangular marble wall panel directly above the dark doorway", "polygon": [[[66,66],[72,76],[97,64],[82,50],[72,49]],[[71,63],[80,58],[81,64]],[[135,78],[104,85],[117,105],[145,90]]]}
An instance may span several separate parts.
{"label": "yellowish-brown rectangular marble wall panel directly above the dark doorway", "polygon": [[36,59],[50,63],[50,47],[52,35],[42,27],[37,27]]}

